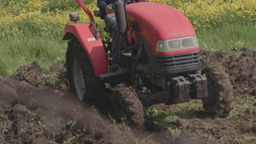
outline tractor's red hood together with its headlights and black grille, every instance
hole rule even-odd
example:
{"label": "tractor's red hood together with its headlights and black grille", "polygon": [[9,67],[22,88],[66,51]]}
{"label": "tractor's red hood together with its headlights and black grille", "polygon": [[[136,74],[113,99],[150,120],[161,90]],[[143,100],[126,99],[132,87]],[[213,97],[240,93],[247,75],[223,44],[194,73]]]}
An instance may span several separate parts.
{"label": "tractor's red hood together with its headlights and black grille", "polygon": [[199,45],[193,26],[181,12],[162,3],[126,6],[129,43],[146,52],[154,74],[200,69]]}

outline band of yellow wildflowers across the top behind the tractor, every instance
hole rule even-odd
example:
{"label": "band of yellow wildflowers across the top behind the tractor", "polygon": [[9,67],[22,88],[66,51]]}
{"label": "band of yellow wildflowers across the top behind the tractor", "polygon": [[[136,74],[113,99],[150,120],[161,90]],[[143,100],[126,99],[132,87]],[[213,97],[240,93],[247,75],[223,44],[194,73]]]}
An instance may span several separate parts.
{"label": "band of yellow wildflowers across the top behind the tractor", "polygon": [[[1,1],[1,0],[0,0]],[[55,1],[53,6],[51,2]],[[28,31],[48,35],[62,35],[66,23],[70,23],[68,14],[80,13],[80,22],[89,22],[85,12],[74,1],[62,0],[20,0],[0,2],[0,39],[25,34]],[[8,2],[8,3],[7,3]],[[197,32],[216,29],[221,17],[230,17],[233,21],[256,21],[255,0],[150,0],[165,3],[178,9],[187,16]],[[89,10],[97,10],[97,1],[88,1]],[[95,21],[103,22],[99,17]],[[59,37],[59,36],[58,36]],[[60,36],[61,37],[61,36]]]}

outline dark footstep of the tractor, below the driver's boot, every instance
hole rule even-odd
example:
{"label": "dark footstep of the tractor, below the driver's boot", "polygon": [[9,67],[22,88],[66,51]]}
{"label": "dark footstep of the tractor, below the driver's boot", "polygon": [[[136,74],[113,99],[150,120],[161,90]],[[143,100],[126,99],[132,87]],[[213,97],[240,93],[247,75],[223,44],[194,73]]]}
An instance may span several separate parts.
{"label": "dark footstep of the tractor, below the driver's boot", "polygon": [[130,71],[119,68],[117,71],[108,71],[106,74],[100,74],[98,79],[106,81],[107,83],[118,84],[124,81],[130,81]]}

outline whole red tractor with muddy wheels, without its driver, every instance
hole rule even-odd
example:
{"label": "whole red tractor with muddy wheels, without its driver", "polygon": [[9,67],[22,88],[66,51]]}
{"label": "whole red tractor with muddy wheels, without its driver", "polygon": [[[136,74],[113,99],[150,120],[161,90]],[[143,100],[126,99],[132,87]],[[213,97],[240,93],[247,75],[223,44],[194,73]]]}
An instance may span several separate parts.
{"label": "whole red tractor with muddy wheels, without its driver", "polygon": [[[126,83],[118,100],[126,118],[143,124],[143,106],[177,104],[202,99],[210,113],[229,113],[232,86],[228,74],[212,65],[199,73],[200,50],[189,20],[177,9],[162,3],[132,3],[116,0],[114,11],[121,38],[121,62],[117,71],[108,69],[110,41],[97,33],[94,16],[77,0],[90,23],[65,26],[63,40],[68,43],[66,65],[70,89],[80,100],[103,104],[105,83]],[[95,16],[100,16],[94,11]]]}

